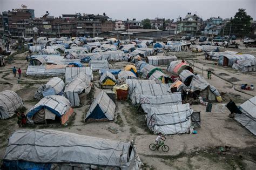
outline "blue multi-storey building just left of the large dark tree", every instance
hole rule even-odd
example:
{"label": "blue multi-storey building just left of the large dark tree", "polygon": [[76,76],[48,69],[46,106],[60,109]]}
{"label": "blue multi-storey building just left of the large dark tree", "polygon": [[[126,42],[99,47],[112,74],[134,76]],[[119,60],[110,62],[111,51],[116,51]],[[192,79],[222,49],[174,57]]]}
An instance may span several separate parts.
{"label": "blue multi-storey building just left of the large dark tree", "polygon": [[212,35],[219,35],[221,28],[223,28],[223,19],[218,17],[218,18],[210,18],[207,19],[205,23],[205,28],[203,34],[205,36],[212,36]]}

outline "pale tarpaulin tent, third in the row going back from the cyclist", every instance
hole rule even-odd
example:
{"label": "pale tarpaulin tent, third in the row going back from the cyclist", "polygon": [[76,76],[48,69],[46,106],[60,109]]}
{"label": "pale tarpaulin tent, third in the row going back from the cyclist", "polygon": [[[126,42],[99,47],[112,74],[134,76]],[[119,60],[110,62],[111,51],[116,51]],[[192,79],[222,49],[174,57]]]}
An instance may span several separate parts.
{"label": "pale tarpaulin tent, third in the row going back from the cyclist", "polygon": [[139,84],[135,85],[134,90],[130,95],[130,99],[133,104],[139,104],[140,94],[149,95],[149,96],[162,96],[170,94],[168,92],[170,85],[169,84]]}

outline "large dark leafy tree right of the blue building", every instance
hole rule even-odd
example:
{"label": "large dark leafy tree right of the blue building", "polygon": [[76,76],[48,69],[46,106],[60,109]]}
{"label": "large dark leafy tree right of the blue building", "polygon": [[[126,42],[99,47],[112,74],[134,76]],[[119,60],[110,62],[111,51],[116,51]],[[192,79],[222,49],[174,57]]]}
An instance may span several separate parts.
{"label": "large dark leafy tree right of the blue building", "polygon": [[[250,32],[252,17],[247,15],[245,9],[238,9],[233,19],[231,19],[231,33],[233,35],[247,35]],[[230,26],[229,24],[227,26]],[[229,27],[228,27],[229,28]],[[227,28],[227,29],[228,29]]]}

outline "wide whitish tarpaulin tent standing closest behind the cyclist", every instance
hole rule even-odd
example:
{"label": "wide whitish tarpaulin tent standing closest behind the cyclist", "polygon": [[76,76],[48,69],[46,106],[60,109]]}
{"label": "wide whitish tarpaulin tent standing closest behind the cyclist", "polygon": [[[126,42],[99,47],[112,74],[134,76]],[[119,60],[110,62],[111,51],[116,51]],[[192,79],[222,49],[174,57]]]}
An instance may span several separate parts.
{"label": "wide whitish tarpaulin tent standing closest behind the cyclist", "polygon": [[188,133],[191,126],[190,104],[150,107],[147,112],[147,127],[163,134]]}

